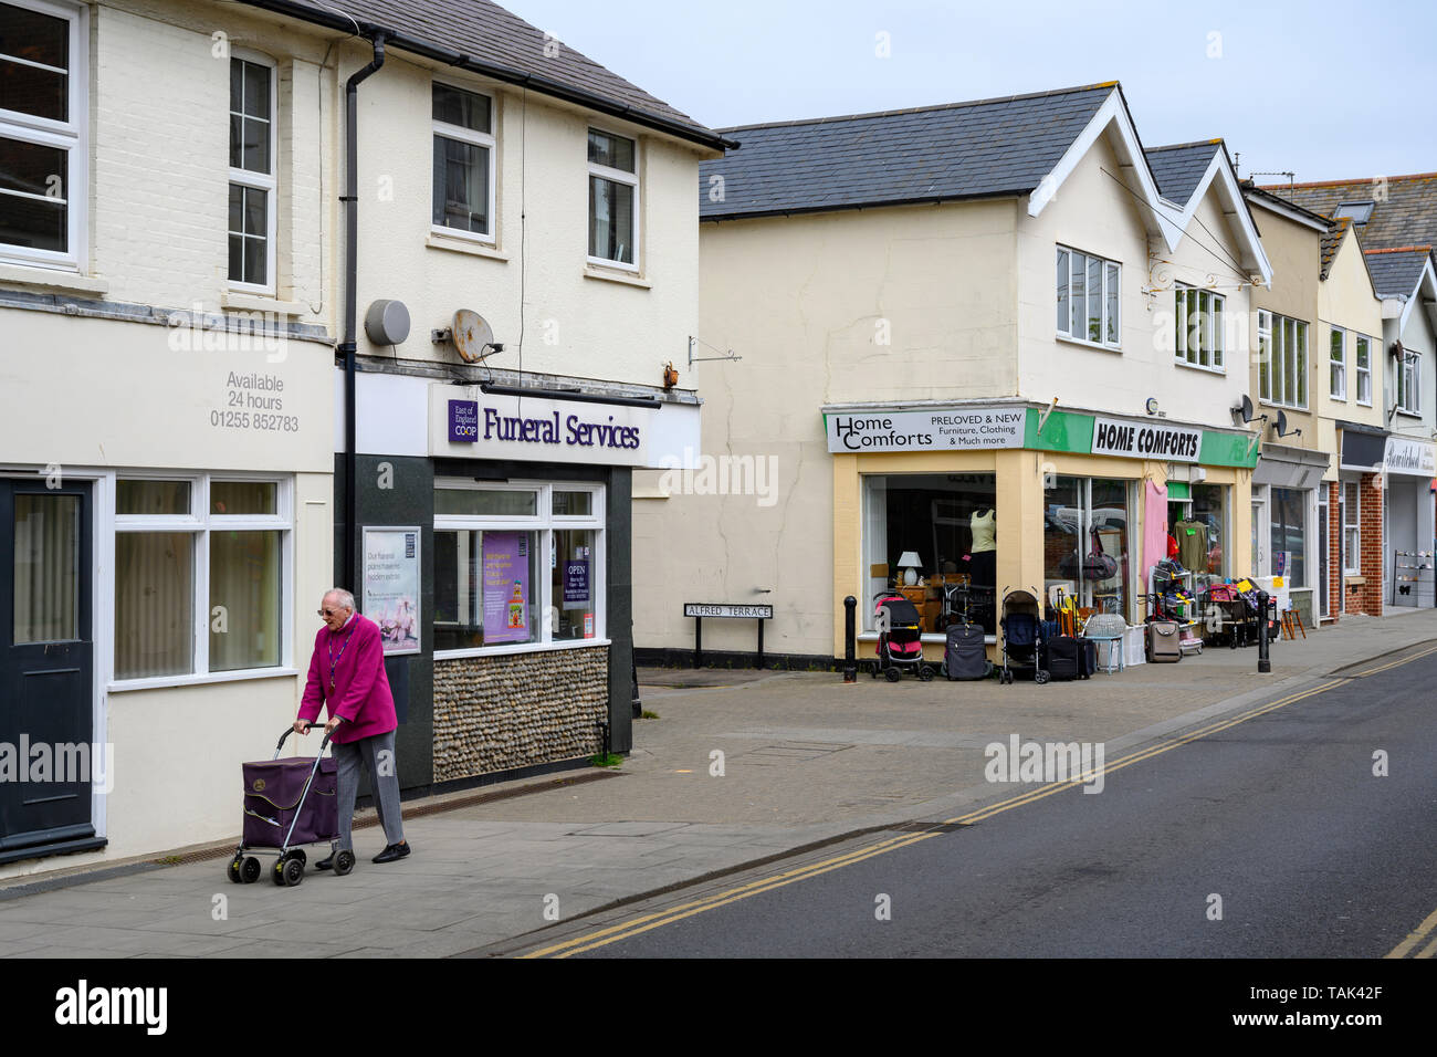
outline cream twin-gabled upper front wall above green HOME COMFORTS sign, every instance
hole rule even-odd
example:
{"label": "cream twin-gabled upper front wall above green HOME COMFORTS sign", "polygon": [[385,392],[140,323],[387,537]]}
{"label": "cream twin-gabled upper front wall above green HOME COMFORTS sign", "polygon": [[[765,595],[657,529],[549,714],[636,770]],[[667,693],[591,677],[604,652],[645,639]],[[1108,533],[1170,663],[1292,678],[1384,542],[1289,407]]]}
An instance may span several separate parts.
{"label": "cream twin-gabled upper front wall above green HOME COMFORTS sign", "polygon": [[[1147,398],[1157,397],[1170,418],[1230,427],[1229,408],[1247,388],[1242,367],[1246,335],[1229,328],[1224,374],[1174,362],[1174,280],[1193,286],[1216,282],[1213,289],[1224,295],[1229,318],[1244,318],[1249,306],[1247,288],[1237,288],[1234,267],[1204,247],[1216,240],[1234,255],[1216,193],[1206,193],[1188,234],[1168,253],[1150,240],[1138,200],[1118,184],[1117,174],[1117,155],[1108,139],[1099,138],[1038,217],[1019,211],[1019,391],[1030,400],[1059,397],[1061,406],[1119,414],[1145,414]],[[1059,244],[1122,265],[1121,351],[1056,337]],[[1148,288],[1157,292],[1145,293]]]}

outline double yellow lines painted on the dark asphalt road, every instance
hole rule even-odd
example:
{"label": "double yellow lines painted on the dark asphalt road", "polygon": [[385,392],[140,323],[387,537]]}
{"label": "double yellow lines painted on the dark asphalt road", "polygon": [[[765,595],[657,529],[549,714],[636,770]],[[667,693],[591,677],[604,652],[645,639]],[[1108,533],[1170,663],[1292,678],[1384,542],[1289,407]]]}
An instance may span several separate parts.
{"label": "double yellow lines painted on the dark asphalt road", "polygon": [[[1378,672],[1387,672],[1390,669],[1400,667],[1401,664],[1407,664],[1410,662],[1418,660],[1420,657],[1426,657],[1426,656],[1428,656],[1431,653],[1437,653],[1437,646],[1434,646],[1434,647],[1431,647],[1431,649],[1428,649],[1428,650],[1426,650],[1423,653],[1417,653],[1417,654],[1413,654],[1410,657],[1404,657],[1401,660],[1392,662],[1390,664],[1384,664],[1381,667],[1368,669],[1367,672],[1359,672],[1357,674],[1358,676],[1368,676],[1368,674],[1375,674]],[[1164,752],[1171,752],[1173,749],[1181,748],[1183,745],[1194,742],[1194,741],[1197,741],[1200,738],[1210,738],[1211,735],[1220,733],[1220,732],[1223,732],[1223,731],[1226,731],[1229,728],[1237,726],[1239,723],[1246,723],[1246,722],[1249,722],[1252,719],[1256,719],[1257,716],[1265,716],[1269,712],[1275,712],[1277,709],[1286,708],[1288,705],[1293,705],[1293,703],[1296,703],[1299,700],[1305,700],[1308,697],[1315,697],[1319,693],[1326,693],[1328,690],[1336,689],[1338,686],[1344,686],[1344,685],[1346,685],[1349,682],[1351,682],[1351,679],[1348,679],[1348,677],[1331,679],[1331,680],[1328,680],[1325,683],[1319,683],[1318,686],[1313,686],[1313,687],[1311,687],[1308,690],[1302,690],[1299,693],[1292,693],[1292,695],[1289,695],[1286,697],[1282,697],[1279,700],[1270,702],[1267,705],[1260,705],[1257,708],[1249,709],[1247,712],[1243,712],[1243,713],[1240,713],[1237,716],[1232,716],[1229,719],[1221,719],[1221,720],[1209,723],[1207,726],[1198,728],[1196,731],[1190,731],[1188,733],[1183,735],[1181,738],[1175,738],[1175,739],[1167,741],[1167,742],[1160,742],[1160,743],[1152,745],[1152,746],[1150,746],[1147,749],[1140,749],[1140,751],[1132,752],[1132,754],[1129,754],[1127,756],[1121,756],[1119,759],[1114,761],[1112,764],[1106,764],[1104,767],[1104,775],[1106,775],[1106,774],[1109,774],[1112,771],[1121,771],[1125,767],[1132,767],[1134,764],[1141,764],[1145,759],[1152,759],[1154,756],[1160,756]],[[1065,781],[1065,782],[1053,782],[1053,784],[1049,784],[1049,785],[1042,785],[1042,787],[1039,787],[1036,790],[1032,790],[1029,792],[1023,792],[1023,794],[1019,794],[1019,795],[1012,797],[1009,800],[999,801],[997,804],[992,804],[989,807],[977,808],[974,811],[970,811],[966,815],[957,815],[956,818],[948,818],[948,820],[946,820],[941,824],[935,824],[933,830],[928,830],[925,833],[908,833],[908,834],[902,834],[900,837],[890,837],[887,840],[881,840],[881,841],[878,841],[875,844],[869,844],[869,846],[858,848],[855,851],[849,851],[849,853],[845,853],[845,854],[841,854],[841,856],[835,856],[832,859],[825,859],[825,860],[818,861],[818,863],[810,863],[808,866],[796,867],[793,870],[787,870],[785,873],[779,873],[779,874],[775,874],[772,877],[763,877],[760,880],[749,882],[747,884],[740,884],[737,887],[729,889],[726,892],[720,892],[720,893],[713,894],[713,896],[706,896],[703,899],[696,899],[696,900],[688,902],[688,903],[681,903],[678,906],[671,906],[671,907],[667,907],[664,910],[657,910],[654,913],[642,915],[639,918],[634,918],[631,920],[627,920],[627,922],[624,922],[621,925],[611,925],[606,929],[598,929],[596,932],[588,932],[588,933],[585,933],[582,936],[576,936],[575,939],[563,941],[562,943],[553,943],[550,946],[540,948],[539,951],[530,951],[529,953],[522,955],[522,956],[523,958],[550,958],[550,956],[552,958],[569,958],[572,955],[579,955],[579,953],[585,953],[588,951],[595,951],[598,948],[608,946],[609,943],[616,943],[616,942],[619,942],[622,939],[629,939],[632,936],[638,936],[638,935],[642,935],[645,932],[651,932],[652,929],[662,928],[664,925],[673,925],[674,922],[680,922],[680,920],[683,920],[685,918],[693,918],[696,915],[706,913],[708,910],[717,910],[720,906],[727,906],[729,903],[737,903],[741,899],[749,899],[752,896],[763,894],[764,892],[773,892],[775,889],[782,889],[782,887],[786,887],[789,884],[796,884],[798,882],[808,880],[810,877],[818,877],[819,874],[829,873],[831,870],[838,870],[838,869],[842,869],[845,866],[852,866],[854,863],[861,863],[865,859],[874,859],[875,856],[884,856],[884,854],[888,854],[890,851],[897,851],[898,848],[911,847],[912,844],[918,844],[921,841],[928,840],[930,837],[937,837],[941,833],[944,833],[946,828],[940,828],[940,825],[941,827],[971,825],[973,823],[979,823],[979,821],[983,821],[986,818],[992,818],[992,817],[999,815],[999,814],[1002,814],[1004,811],[1012,811],[1016,807],[1023,807],[1025,804],[1032,804],[1033,801],[1042,800],[1043,797],[1052,797],[1053,794],[1063,792],[1065,790],[1072,790],[1072,788],[1076,788],[1078,785],[1083,785],[1083,784],[1085,784],[1083,779],[1079,777],[1079,778],[1073,778],[1073,779]],[[1410,943],[1413,946],[1415,946],[1415,943],[1418,943],[1421,941],[1421,938],[1426,936],[1434,926],[1437,926],[1437,912],[1434,912],[1426,922],[1423,922],[1423,926],[1421,926],[1420,932],[1413,933],[1411,936],[1408,936],[1408,939],[1404,941],[1404,943],[1407,943],[1410,941]],[[1437,951],[1437,941],[1434,941],[1431,945],[1428,945],[1417,956],[1418,958],[1430,958],[1434,951]],[[1403,955],[1398,955],[1398,953],[1394,952],[1392,955],[1388,955],[1388,956],[1390,958],[1391,956],[1401,958]]]}

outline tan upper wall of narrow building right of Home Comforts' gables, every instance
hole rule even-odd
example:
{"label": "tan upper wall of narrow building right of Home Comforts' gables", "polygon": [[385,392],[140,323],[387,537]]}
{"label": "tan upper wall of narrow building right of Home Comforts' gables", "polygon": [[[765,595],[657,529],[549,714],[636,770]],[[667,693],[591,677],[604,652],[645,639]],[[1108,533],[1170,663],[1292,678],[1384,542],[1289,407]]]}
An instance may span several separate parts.
{"label": "tan upper wall of narrow building right of Home Comforts' gables", "polygon": [[[1272,262],[1272,289],[1253,290],[1253,315],[1249,325],[1249,341],[1257,348],[1257,312],[1267,309],[1308,324],[1308,410],[1277,407],[1262,401],[1262,375],[1259,360],[1252,357],[1247,384],[1253,404],[1267,411],[1263,441],[1272,440],[1288,447],[1316,449],[1321,444],[1318,413],[1328,401],[1328,328],[1319,322],[1321,305],[1318,288],[1322,270],[1322,234],[1305,224],[1289,220],[1280,213],[1263,209],[1260,200],[1250,203],[1253,216],[1262,230],[1263,250]],[[1272,429],[1273,418],[1282,410],[1288,416],[1288,429],[1300,429],[1302,436],[1286,436],[1280,440]],[[1331,449],[1328,449],[1331,450]]]}

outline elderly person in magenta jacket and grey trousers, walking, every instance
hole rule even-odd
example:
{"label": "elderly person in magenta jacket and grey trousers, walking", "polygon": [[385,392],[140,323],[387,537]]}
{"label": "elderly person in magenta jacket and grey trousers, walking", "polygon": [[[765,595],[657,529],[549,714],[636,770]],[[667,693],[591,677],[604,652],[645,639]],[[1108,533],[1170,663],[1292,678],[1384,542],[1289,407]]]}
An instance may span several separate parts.
{"label": "elderly person in magenta jacket and grey trousers, walking", "polygon": [[354,853],[351,827],[361,761],[369,771],[375,810],[388,841],[374,861],[392,863],[410,854],[410,846],[404,840],[399,778],[394,767],[394,732],[399,723],[389,677],[384,673],[379,626],[355,613],[355,597],[338,587],[325,594],[319,616],[325,627],[315,636],[309,682],[295,729],[303,733],[319,718],[319,706],[325,706],[329,716],[325,731],[331,735],[338,761],[339,840],[329,859],[315,866],[328,870],[335,864],[336,851]]}

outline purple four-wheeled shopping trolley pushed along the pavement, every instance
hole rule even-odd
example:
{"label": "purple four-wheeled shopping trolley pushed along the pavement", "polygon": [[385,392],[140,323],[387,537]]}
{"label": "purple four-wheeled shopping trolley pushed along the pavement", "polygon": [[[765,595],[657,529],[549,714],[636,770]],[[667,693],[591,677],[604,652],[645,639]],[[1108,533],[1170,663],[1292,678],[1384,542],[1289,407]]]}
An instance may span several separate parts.
{"label": "purple four-wheeled shopping trolley pushed along the pavement", "polygon": [[[310,723],[310,728],[316,723]],[[234,859],[226,870],[236,884],[259,880],[260,860],[246,851],[273,848],[264,854],[277,856],[270,877],[276,884],[299,884],[305,880],[305,851],[299,844],[319,844],[339,836],[336,807],[339,774],[333,756],[326,756],[329,733],[319,743],[319,755],[279,758],[285,739],[295,733],[287,728],[274,746],[272,759],[241,764],[244,771],[244,836]],[[335,873],[355,869],[354,851],[335,854]]]}

